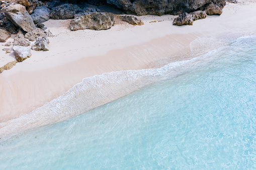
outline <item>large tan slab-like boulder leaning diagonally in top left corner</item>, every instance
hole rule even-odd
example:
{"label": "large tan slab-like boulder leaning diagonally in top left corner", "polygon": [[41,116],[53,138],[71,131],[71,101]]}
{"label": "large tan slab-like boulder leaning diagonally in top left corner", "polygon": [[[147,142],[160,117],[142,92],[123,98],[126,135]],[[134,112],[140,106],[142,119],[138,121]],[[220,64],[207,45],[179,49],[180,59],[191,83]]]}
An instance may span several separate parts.
{"label": "large tan slab-like boulder leaning diagonally in top left corner", "polygon": [[26,32],[33,31],[36,26],[32,18],[27,12],[26,8],[20,4],[10,5],[3,8],[6,17],[12,21],[13,24],[22,28]]}

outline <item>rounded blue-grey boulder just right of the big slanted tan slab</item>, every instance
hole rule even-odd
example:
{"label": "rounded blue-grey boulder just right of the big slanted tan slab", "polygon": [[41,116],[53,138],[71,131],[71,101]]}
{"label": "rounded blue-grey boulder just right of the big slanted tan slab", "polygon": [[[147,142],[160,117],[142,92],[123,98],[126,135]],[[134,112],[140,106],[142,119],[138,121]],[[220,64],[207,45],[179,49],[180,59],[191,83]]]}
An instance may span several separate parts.
{"label": "rounded blue-grey boulder just right of the big slanted tan slab", "polygon": [[34,24],[43,23],[50,19],[50,10],[46,6],[37,7],[31,14]]}

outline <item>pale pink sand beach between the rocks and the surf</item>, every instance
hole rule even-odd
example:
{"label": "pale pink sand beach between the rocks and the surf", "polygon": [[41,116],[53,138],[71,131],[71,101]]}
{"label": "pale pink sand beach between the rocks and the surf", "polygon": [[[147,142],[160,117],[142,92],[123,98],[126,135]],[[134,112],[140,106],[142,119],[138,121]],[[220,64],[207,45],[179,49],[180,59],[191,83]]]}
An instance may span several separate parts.
{"label": "pale pink sand beach between the rocks and the surf", "polygon": [[[184,60],[186,56],[175,56],[190,50],[196,39],[254,34],[255,9],[254,1],[227,3],[221,16],[207,16],[193,26],[181,27],[172,25],[177,16],[170,15],[141,16],[143,26],[118,21],[105,31],[71,32],[70,20],[49,20],[44,24],[55,35],[49,38],[50,51],[32,51],[31,58],[0,74],[0,134],[11,120],[63,95],[83,78]],[[0,67],[15,60],[13,53],[2,51],[4,44],[0,43]],[[212,48],[209,41],[197,45]]]}

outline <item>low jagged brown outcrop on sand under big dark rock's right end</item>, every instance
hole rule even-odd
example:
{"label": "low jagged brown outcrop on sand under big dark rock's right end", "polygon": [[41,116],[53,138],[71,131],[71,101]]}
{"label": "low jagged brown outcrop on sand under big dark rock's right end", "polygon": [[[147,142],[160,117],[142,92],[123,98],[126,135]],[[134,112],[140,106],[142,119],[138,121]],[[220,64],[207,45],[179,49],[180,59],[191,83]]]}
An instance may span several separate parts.
{"label": "low jagged brown outcrop on sand under big dark rock's right end", "polygon": [[174,19],[174,25],[193,25],[193,22],[196,20],[201,20],[206,18],[205,11],[195,11],[193,13],[183,13],[178,18]]}

